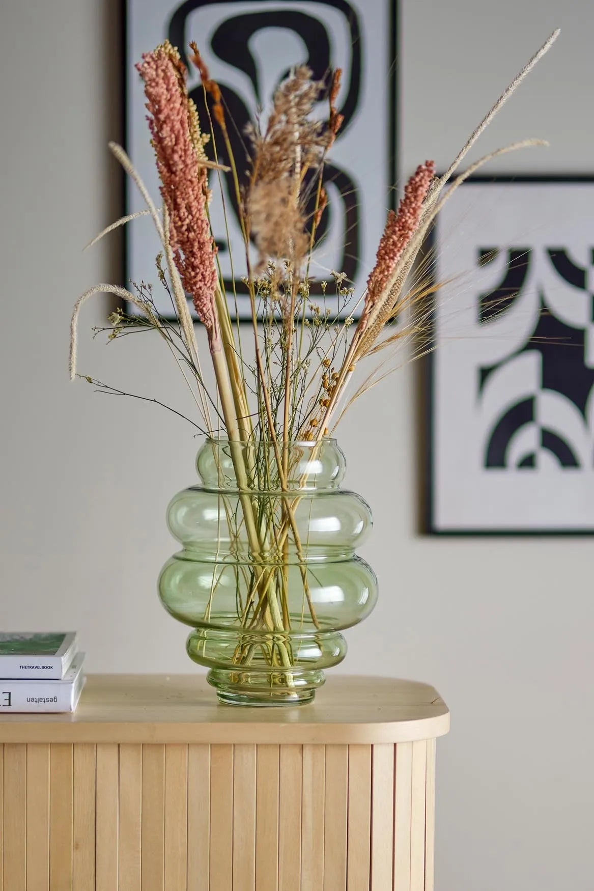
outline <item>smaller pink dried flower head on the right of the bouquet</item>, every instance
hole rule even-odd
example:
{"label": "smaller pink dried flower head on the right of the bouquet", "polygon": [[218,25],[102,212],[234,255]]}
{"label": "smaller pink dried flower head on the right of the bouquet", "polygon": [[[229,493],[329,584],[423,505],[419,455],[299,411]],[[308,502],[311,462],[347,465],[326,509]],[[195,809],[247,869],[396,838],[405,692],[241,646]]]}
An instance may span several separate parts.
{"label": "smaller pink dried flower head on the right of the bouquet", "polygon": [[434,176],[433,161],[419,164],[404,188],[404,197],[398,211],[390,210],[387,215],[386,228],[379,241],[376,265],[367,280],[365,308],[374,306],[386,290],[398,258],[419,225],[423,201],[427,198],[429,185]]}

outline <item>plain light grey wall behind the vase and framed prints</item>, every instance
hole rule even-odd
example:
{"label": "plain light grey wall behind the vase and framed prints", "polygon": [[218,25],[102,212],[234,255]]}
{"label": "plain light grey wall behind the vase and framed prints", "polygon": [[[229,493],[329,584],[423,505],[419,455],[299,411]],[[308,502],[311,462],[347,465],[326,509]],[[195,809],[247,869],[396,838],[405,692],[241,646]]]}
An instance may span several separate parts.
{"label": "plain light grey wall behind the vase and framed prints", "polygon": [[[118,269],[117,239],[81,253],[118,212],[105,149],[119,135],[116,7],[0,12],[0,627],[75,627],[90,671],[184,672],[185,629],[155,580],[175,544],[164,510],[193,479],[196,445],[173,416],[66,373],[70,307]],[[403,175],[426,157],[443,168],[557,24],[557,46],[482,148],[548,136],[548,151],[498,169],[592,172],[589,0],[403,0]],[[183,407],[150,337],[90,342],[106,305],[83,314],[81,370]],[[441,891],[590,891],[592,541],[416,535],[414,381],[404,369],[340,433],[348,481],[375,513],[365,556],[381,584],[345,670],[430,681],[452,709],[438,747]]]}

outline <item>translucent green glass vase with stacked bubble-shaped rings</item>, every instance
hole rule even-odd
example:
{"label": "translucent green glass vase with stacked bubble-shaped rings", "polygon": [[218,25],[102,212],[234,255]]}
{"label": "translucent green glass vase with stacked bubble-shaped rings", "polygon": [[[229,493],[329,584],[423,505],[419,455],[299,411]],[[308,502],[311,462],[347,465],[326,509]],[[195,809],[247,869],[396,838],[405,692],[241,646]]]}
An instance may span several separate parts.
{"label": "translucent green glass vase with stacked bubble-shaped rings", "polygon": [[191,625],[188,654],[210,669],[219,699],[307,702],[345,658],[341,632],[377,599],[376,576],[355,554],[370,508],[340,489],[334,439],[207,439],[196,466],[200,484],[167,509],[182,550],[161,570],[163,606]]}

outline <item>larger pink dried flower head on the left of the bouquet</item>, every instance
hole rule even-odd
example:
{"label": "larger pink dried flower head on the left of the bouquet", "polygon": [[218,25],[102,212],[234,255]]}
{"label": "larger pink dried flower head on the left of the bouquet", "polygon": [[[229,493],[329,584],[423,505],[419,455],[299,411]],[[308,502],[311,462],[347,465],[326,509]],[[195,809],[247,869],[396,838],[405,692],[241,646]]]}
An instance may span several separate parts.
{"label": "larger pink dried flower head on the left of the bouquet", "polygon": [[144,81],[175,266],[207,328],[212,349],[219,341],[216,247],[207,218],[207,170],[199,163],[204,159],[204,140],[199,135],[196,107],[188,97],[187,72],[168,41],[152,53],[144,53],[136,68]]}

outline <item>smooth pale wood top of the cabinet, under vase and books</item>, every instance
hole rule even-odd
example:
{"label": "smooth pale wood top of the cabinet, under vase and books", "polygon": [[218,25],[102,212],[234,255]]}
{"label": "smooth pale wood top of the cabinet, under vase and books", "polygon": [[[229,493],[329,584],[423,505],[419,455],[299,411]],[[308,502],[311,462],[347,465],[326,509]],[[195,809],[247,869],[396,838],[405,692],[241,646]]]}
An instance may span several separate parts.
{"label": "smooth pale wood top of the cabinet, under vase and books", "polygon": [[428,684],[338,675],[313,703],[223,706],[200,674],[94,674],[74,715],[0,715],[1,742],[382,743],[447,733]]}

